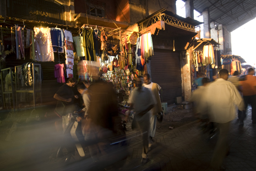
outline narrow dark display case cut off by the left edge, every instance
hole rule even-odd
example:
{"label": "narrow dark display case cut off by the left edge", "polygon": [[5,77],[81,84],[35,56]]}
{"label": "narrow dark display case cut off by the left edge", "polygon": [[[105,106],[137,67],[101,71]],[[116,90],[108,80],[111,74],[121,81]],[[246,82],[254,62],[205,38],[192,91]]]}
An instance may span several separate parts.
{"label": "narrow dark display case cut off by the left edge", "polygon": [[4,109],[15,110],[15,69],[6,68],[1,70],[1,93]]}

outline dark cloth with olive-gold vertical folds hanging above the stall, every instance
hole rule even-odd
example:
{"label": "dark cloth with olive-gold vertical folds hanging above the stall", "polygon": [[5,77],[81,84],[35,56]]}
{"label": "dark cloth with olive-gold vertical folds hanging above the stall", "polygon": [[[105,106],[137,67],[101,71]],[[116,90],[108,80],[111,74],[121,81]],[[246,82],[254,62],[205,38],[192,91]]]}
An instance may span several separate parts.
{"label": "dark cloth with olive-gold vertical folds hanging above the stall", "polygon": [[95,61],[95,49],[94,49],[94,40],[93,40],[93,31],[92,29],[83,29],[83,47],[85,52],[85,59],[86,60],[93,60]]}

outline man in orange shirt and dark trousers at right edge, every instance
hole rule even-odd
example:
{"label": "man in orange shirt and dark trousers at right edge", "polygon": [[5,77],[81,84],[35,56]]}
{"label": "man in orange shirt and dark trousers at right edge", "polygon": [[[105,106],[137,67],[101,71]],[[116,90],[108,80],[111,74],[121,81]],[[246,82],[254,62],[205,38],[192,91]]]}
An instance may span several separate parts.
{"label": "man in orange shirt and dark trousers at right edge", "polygon": [[256,77],[254,75],[254,69],[248,69],[248,75],[244,81],[241,81],[243,100],[244,100],[244,111],[240,118],[240,124],[243,124],[244,118],[246,118],[246,109],[248,104],[252,106],[252,123],[256,123]]}

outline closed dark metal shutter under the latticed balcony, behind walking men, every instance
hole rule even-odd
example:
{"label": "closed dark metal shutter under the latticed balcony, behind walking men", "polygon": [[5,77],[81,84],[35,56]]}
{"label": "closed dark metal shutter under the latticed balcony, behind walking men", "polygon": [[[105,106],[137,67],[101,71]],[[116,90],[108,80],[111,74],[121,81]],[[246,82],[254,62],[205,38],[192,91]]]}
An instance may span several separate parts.
{"label": "closed dark metal shutter under the latticed balcony, behind walking men", "polygon": [[181,62],[179,52],[167,49],[154,49],[151,59],[151,78],[162,88],[162,102],[175,103],[182,96]]}

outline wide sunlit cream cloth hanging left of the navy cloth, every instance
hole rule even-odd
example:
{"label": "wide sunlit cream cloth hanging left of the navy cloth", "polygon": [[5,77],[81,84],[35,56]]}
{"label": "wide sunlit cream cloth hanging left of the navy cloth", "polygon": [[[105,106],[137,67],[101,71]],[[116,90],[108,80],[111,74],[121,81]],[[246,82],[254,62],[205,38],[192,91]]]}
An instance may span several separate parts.
{"label": "wide sunlit cream cloth hanging left of the navy cloth", "polygon": [[37,28],[34,27],[35,31],[35,58],[41,62],[53,62],[53,48],[51,41],[50,28]]}

